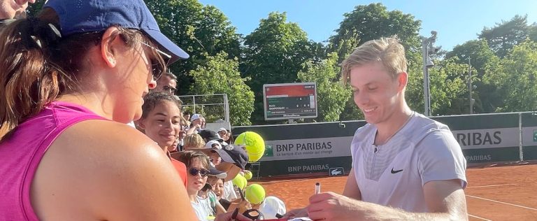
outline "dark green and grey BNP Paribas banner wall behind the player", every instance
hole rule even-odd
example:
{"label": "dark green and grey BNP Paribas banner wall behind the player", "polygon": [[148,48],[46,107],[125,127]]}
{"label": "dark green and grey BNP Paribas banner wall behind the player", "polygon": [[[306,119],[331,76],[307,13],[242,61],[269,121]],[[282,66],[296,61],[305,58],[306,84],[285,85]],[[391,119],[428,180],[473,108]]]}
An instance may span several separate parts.
{"label": "dark green and grey BNP Paribas banner wall behind the player", "polygon": [[[432,117],[447,124],[468,164],[518,161],[520,152],[520,119],[518,113],[458,115]],[[533,140],[536,123],[525,129],[522,137]],[[350,171],[350,143],[364,121],[313,124],[280,124],[234,127],[235,135],[255,131],[265,139],[265,154],[260,159],[259,176],[298,173],[327,173],[341,168]],[[535,127],[535,129],[533,129]],[[529,135],[532,135],[531,137]],[[537,135],[536,135],[537,142]],[[537,143],[531,143],[537,159]]]}

